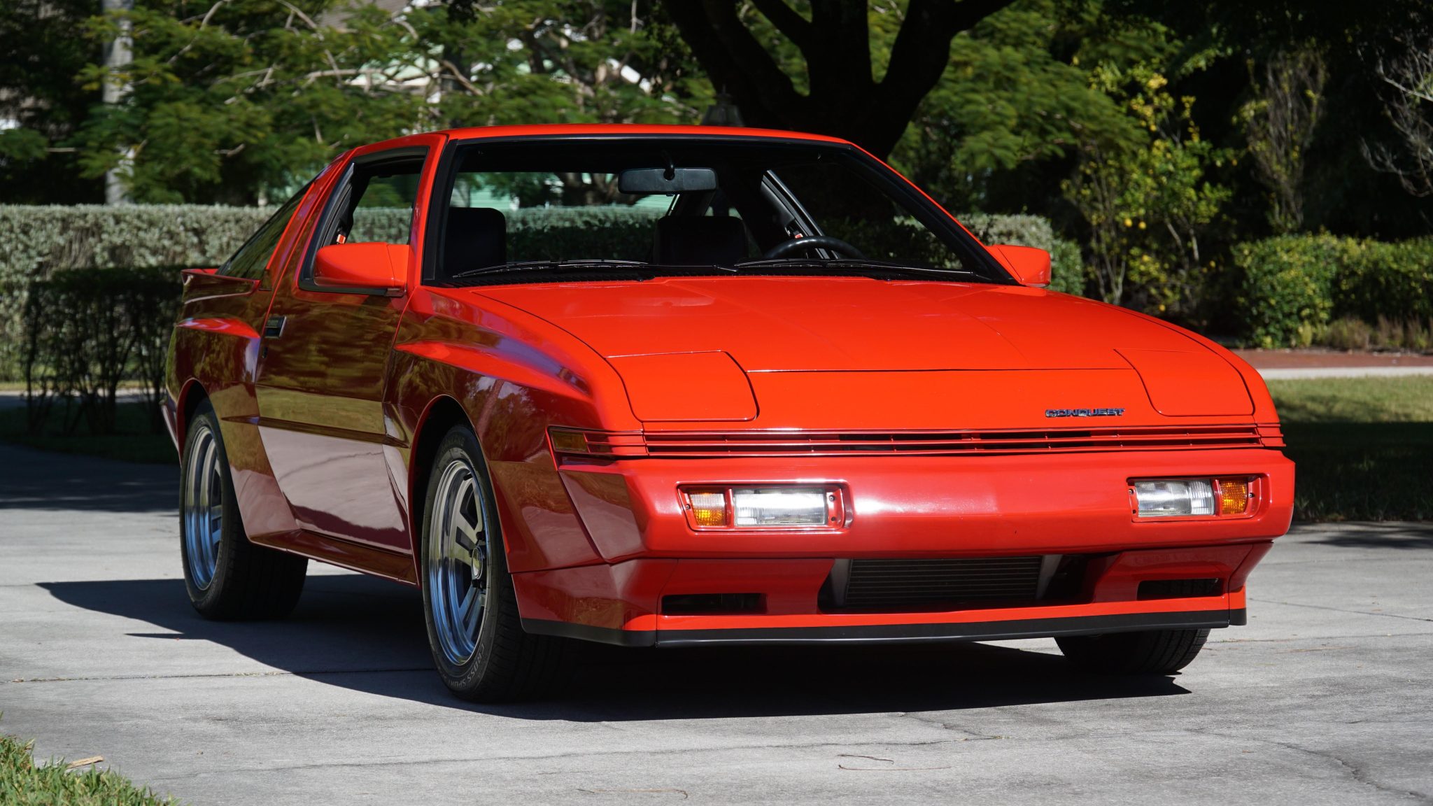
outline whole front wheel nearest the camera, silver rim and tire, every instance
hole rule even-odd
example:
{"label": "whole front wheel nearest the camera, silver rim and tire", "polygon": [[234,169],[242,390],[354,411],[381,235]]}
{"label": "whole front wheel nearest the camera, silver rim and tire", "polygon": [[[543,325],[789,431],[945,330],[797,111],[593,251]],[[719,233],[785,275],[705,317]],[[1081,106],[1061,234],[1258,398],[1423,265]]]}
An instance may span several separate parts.
{"label": "whole front wheel nearest the camera, silver rim and tire", "polygon": [[517,615],[493,486],[473,432],[438,445],[423,508],[423,614],[433,663],[464,700],[542,694],[566,668],[567,643],[529,635]]}

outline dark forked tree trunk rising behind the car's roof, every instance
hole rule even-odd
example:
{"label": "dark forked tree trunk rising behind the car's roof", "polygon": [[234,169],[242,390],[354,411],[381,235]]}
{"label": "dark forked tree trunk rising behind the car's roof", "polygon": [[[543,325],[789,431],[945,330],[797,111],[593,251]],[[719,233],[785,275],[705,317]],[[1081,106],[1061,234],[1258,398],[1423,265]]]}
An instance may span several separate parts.
{"label": "dark forked tree trunk rising behind the car's roof", "polygon": [[[712,85],[748,125],[821,132],[877,156],[900,142],[920,102],[950,66],[950,42],[1012,0],[674,0],[666,13]],[[871,53],[873,10],[894,20],[883,59]],[[762,42],[771,26],[800,53],[792,65]],[[883,65],[880,65],[883,62]],[[874,70],[883,66],[877,80]]]}

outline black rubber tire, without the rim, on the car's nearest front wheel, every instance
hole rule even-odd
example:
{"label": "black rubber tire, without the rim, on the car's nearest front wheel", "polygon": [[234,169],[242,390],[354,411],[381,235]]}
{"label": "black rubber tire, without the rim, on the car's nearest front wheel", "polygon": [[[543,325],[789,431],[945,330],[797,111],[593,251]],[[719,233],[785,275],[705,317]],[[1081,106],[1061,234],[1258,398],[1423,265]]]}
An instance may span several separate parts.
{"label": "black rubber tire, without the rim, on the car's nearest front wheel", "polygon": [[[444,521],[446,516],[438,512],[438,496],[446,495],[444,490],[449,489],[443,483],[444,473],[454,469],[459,473],[463,472],[463,468],[456,468],[456,465],[466,466],[471,472],[471,480],[481,493],[480,498],[471,499],[471,505],[474,508],[481,505],[480,542],[486,546],[486,554],[479,564],[481,571],[473,574],[473,585],[477,587],[480,581],[483,592],[476,635],[449,638],[449,641],[463,641],[463,648],[466,648],[466,641],[471,640],[471,654],[467,658],[450,657],[450,651],[444,648],[444,638],[440,637],[437,621],[443,618],[440,612],[446,614],[444,608],[449,607],[443,604],[447,582],[441,579],[447,577],[443,577],[444,571],[441,569],[434,571],[433,565],[434,542],[441,545],[441,541],[446,539],[440,534],[440,521]],[[540,697],[565,681],[572,658],[570,641],[550,635],[530,635],[522,627],[517,614],[517,595],[513,591],[512,575],[507,572],[493,483],[487,475],[477,437],[467,426],[450,429],[437,447],[437,455],[428,470],[421,532],[423,618],[428,631],[433,663],[443,684],[464,700],[504,703]],[[434,574],[438,575],[437,581]]]}

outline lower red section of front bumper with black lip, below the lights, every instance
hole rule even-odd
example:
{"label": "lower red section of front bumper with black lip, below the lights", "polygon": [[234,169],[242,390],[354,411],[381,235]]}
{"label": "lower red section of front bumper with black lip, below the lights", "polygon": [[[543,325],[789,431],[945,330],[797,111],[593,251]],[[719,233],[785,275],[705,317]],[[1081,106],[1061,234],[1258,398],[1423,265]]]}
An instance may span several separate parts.
{"label": "lower red section of front bumper with black lip, below the lights", "polygon": [[[633,559],[514,575],[529,632],[629,647],[894,644],[1244,624],[1244,582],[1270,541],[1101,555],[1066,601],[914,612],[821,605],[833,559]],[[1139,582],[1218,579],[1218,595],[1141,599]],[[761,612],[668,614],[668,597],[755,594]]]}

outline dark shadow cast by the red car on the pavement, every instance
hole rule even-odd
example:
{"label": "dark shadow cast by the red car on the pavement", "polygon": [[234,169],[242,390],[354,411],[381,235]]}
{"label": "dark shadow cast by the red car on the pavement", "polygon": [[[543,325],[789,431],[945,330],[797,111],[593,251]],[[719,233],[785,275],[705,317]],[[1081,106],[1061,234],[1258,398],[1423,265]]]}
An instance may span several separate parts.
{"label": "dark shadow cast by the red car on the pavement", "polygon": [[457,700],[433,671],[416,591],[357,575],[308,579],[284,621],[215,622],[179,579],[49,582],[57,599],[156,630],[136,640],[198,640],[325,684],[514,719],[626,721],[888,711],[946,711],[1185,694],[1172,678],[1072,671],[1055,654],[986,644],[941,647],[731,647],[620,650],[585,645],[573,681],[540,703]]}

